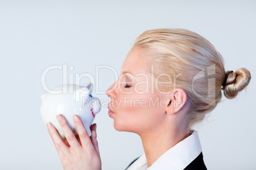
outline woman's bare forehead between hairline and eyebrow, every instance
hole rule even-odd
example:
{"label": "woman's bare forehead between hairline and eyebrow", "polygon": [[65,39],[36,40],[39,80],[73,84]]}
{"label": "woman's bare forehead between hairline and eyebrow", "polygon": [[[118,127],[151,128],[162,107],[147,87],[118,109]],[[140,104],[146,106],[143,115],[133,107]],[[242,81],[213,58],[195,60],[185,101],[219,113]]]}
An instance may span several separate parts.
{"label": "woman's bare forehead between hairline and eyebrow", "polygon": [[146,62],[141,51],[136,48],[132,48],[125,57],[124,63],[121,68],[121,74],[136,75],[139,73],[145,73]]}

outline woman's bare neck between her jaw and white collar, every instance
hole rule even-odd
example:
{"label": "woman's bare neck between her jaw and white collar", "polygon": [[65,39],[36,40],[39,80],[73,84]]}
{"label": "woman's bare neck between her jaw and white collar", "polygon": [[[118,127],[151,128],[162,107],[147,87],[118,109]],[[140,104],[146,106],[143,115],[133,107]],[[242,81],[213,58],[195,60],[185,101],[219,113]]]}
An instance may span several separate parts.
{"label": "woman's bare neck between her jaw and white collar", "polygon": [[153,162],[159,159],[159,157],[169,150],[169,148],[184,140],[189,135],[190,130],[178,128],[174,128],[173,131],[166,128],[158,131],[151,131],[148,134],[139,134],[143,144],[148,167],[152,166]]}

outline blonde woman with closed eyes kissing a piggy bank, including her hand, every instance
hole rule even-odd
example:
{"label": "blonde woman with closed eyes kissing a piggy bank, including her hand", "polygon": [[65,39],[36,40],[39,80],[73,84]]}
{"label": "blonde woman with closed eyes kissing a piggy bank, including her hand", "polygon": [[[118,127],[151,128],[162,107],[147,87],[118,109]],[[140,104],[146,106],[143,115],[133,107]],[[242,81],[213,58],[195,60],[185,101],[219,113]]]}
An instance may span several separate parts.
{"label": "blonde woman with closed eyes kissing a piggy bank, including her hand", "polygon": [[[137,133],[145,154],[131,169],[206,169],[200,141],[192,126],[222,98],[234,98],[250,82],[250,72],[224,69],[222,56],[204,37],[184,29],[148,30],[136,39],[121,75],[106,94],[117,131]],[[101,169],[96,124],[89,138],[74,116],[75,136],[58,115],[66,136],[48,123],[64,169]]]}

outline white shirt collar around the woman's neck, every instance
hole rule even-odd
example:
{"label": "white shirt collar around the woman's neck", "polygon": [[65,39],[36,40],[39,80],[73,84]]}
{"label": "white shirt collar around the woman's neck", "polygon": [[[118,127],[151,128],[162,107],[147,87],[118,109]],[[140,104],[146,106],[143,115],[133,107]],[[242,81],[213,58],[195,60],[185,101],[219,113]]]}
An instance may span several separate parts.
{"label": "white shirt collar around the woman's neck", "polygon": [[190,136],[169,148],[152,166],[146,168],[146,156],[143,154],[127,170],[185,169],[201,152],[199,136],[194,130]]}

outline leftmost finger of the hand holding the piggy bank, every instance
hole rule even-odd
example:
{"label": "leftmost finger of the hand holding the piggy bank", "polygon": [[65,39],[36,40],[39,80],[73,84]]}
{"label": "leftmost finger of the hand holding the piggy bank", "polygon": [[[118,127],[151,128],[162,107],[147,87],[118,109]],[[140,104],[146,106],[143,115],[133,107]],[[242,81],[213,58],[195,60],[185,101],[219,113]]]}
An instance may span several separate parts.
{"label": "leftmost finger of the hand holding the piggy bank", "polygon": [[57,130],[55,129],[55,127],[53,126],[53,124],[51,122],[47,123],[47,128],[48,128],[48,132],[52,138],[52,141],[55,144],[55,148],[56,148],[57,152],[58,153],[62,152],[63,154],[68,154],[68,152],[69,152],[68,147],[65,145],[62,138],[60,138],[59,133],[57,132]]}

